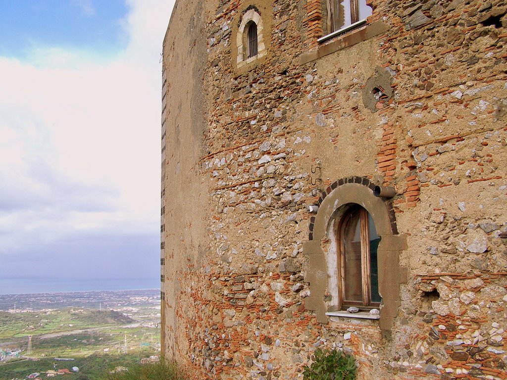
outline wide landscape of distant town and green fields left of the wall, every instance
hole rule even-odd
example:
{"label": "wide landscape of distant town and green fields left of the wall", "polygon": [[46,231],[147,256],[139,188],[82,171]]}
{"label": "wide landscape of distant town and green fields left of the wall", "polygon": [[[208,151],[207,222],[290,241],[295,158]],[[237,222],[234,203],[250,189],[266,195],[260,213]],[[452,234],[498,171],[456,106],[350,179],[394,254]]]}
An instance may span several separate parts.
{"label": "wide landscape of distant town and green fields left of the wall", "polygon": [[[25,379],[28,376],[34,380],[57,376],[72,378],[73,373],[78,372],[79,368],[77,366],[71,367],[76,363],[74,358],[65,357],[70,355],[70,346],[71,350],[75,350],[73,352],[80,352],[78,355],[82,355],[81,353],[88,355],[90,352],[110,352],[116,356],[121,351],[126,353],[127,349],[130,353],[140,352],[146,356],[156,354],[160,351],[158,341],[160,331],[159,294],[158,289],[94,292],[93,294],[53,293],[51,296],[42,294],[40,298],[39,295],[34,294],[0,294],[1,317],[5,317],[6,321],[13,321],[12,325],[8,322],[7,326],[0,327],[2,332],[5,332],[4,329],[7,327],[6,331],[12,333],[12,335],[7,334],[0,339],[0,364],[16,358],[33,360],[46,358],[50,363],[54,363],[56,368],[51,368],[48,365],[51,368],[48,369],[46,365],[41,364],[31,369],[34,372],[29,375],[27,375],[28,369],[26,372],[22,372],[21,378]],[[107,297],[111,298],[107,299]],[[90,306],[90,308],[78,306],[80,303]],[[98,310],[100,303],[103,307],[102,311]],[[13,307],[15,304],[16,308]],[[52,307],[60,304],[64,304],[66,307]],[[50,305],[51,307],[48,307]],[[105,305],[107,305],[107,311],[104,311]],[[16,313],[17,315],[9,316],[7,313]],[[124,318],[127,313],[134,317],[134,320]],[[95,317],[102,318],[99,323],[104,324],[105,330],[102,326],[97,328],[98,325],[89,325],[89,323],[96,322]],[[19,321],[26,322],[20,324]],[[105,326],[110,323],[112,324],[111,329],[108,328],[109,326]],[[57,326],[55,328],[57,331],[48,331],[48,324]],[[20,325],[21,329],[18,327]],[[128,333],[128,341],[124,340],[126,336],[124,337],[123,333],[121,340],[112,338],[112,336],[117,336],[117,326],[125,328]],[[140,334],[135,333],[137,329],[140,329]],[[135,332],[130,333],[132,330]],[[28,334],[33,336],[32,355],[27,355]],[[60,336],[65,336],[64,339],[61,339],[61,344]],[[95,344],[90,344],[91,341],[95,341]],[[107,357],[107,355],[101,356]],[[140,360],[139,356],[137,357],[137,360]],[[149,362],[156,360],[153,357],[144,359]],[[39,363],[47,364],[47,360]],[[107,359],[104,359],[104,362],[106,361]],[[15,364],[15,368],[23,368],[23,366],[23,361]],[[57,369],[63,366],[66,366],[67,369]],[[89,370],[94,371],[94,369],[84,368],[85,375]],[[12,372],[11,377],[14,380],[16,377],[14,371],[9,369],[8,372]]]}

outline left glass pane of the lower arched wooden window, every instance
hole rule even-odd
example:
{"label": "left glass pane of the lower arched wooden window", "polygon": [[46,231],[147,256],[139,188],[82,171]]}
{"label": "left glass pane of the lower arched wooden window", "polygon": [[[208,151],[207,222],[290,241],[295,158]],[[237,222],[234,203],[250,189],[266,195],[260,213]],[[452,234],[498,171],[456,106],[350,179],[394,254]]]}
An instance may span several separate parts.
{"label": "left glass pane of the lower arched wooden window", "polygon": [[361,276],[361,223],[359,210],[346,221],[343,228],[344,300],[363,302]]}

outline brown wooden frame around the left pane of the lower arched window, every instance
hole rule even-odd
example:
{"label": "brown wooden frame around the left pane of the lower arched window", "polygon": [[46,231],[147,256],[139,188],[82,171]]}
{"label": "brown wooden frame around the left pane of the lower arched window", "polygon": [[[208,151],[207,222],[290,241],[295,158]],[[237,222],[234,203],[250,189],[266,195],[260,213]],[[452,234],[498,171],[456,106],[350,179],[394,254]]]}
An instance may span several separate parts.
{"label": "brown wooden frame around the left pane of the lower arched window", "polygon": [[[363,301],[345,301],[345,247],[344,247],[344,229],[347,221],[359,211],[360,234],[361,234],[361,287],[363,290]],[[337,227],[337,255],[338,255],[338,277],[340,279],[340,305],[341,308],[350,306],[358,307],[363,310],[378,309],[380,302],[371,300],[371,252],[370,238],[368,229],[368,211],[359,205],[348,208],[342,216]],[[378,268],[378,266],[377,266]]]}

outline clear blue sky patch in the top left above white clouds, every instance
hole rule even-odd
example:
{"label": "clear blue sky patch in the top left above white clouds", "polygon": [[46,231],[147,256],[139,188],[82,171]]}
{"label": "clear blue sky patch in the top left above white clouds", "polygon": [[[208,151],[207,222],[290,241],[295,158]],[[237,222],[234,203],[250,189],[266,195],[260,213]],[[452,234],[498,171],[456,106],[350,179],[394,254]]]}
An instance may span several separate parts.
{"label": "clear blue sky patch in the top left above white clouds", "polygon": [[5,0],[0,9],[2,56],[29,58],[40,46],[111,55],[128,43],[122,0]]}

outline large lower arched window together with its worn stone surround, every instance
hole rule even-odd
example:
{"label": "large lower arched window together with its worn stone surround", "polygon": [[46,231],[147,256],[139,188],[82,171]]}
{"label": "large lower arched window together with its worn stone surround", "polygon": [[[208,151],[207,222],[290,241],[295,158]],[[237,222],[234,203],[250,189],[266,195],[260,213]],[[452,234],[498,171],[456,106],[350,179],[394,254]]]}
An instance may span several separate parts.
{"label": "large lower arched window together with its worn stone surround", "polygon": [[[400,286],[408,282],[408,269],[400,265],[407,237],[398,233],[392,204],[376,196],[375,187],[366,177],[340,178],[319,198],[303,244],[311,292],[305,308],[321,323],[378,319],[387,337],[401,305]],[[349,306],[363,312],[347,312]],[[365,313],[373,308],[380,314]]]}

